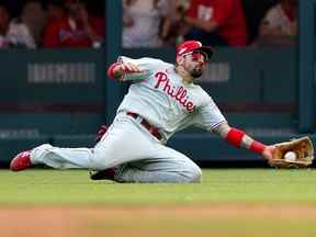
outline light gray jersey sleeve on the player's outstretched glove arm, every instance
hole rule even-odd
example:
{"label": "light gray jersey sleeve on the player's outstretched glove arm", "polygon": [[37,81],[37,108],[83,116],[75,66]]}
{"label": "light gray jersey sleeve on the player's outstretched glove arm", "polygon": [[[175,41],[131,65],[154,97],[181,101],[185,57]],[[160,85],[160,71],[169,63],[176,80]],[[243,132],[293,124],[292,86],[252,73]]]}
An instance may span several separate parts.
{"label": "light gray jersey sleeve on the player's outstretched glove arm", "polygon": [[194,117],[194,124],[203,129],[213,131],[222,123],[226,123],[226,119],[212,98],[208,97],[207,102],[199,108]]}

